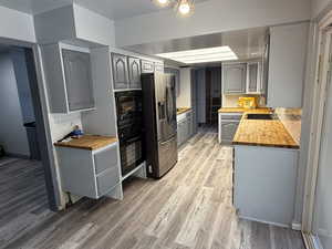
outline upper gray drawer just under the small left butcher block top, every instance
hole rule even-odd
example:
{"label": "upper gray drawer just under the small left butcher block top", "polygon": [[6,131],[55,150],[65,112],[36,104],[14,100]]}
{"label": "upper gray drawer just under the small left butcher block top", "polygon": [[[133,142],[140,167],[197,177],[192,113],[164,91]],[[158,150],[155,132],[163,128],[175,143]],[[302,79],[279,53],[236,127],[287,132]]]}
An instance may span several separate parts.
{"label": "upper gray drawer just under the small left butcher block top", "polygon": [[95,174],[100,174],[108,168],[117,168],[116,146],[96,153],[94,155]]}

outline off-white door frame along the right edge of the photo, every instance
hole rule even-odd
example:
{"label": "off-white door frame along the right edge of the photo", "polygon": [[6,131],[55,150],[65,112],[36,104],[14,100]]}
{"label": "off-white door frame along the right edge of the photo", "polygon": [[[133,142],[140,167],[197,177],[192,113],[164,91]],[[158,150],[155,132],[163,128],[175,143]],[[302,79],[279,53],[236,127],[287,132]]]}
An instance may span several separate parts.
{"label": "off-white door frame along the right edge of the photo", "polygon": [[[312,234],[314,229],[315,200],[317,200],[317,184],[321,155],[321,134],[324,126],[325,104],[328,101],[326,87],[329,87],[332,73],[332,11],[324,15],[320,21],[314,23],[314,37],[317,43],[313,42],[317,54],[312,64],[314,64],[313,80],[313,102],[311,111],[311,126],[309,153],[307,162],[307,174],[303,195],[303,212],[302,212],[302,231],[304,241],[308,248],[315,248],[317,241]],[[314,38],[314,39],[315,39]],[[315,50],[317,49],[317,50]]]}

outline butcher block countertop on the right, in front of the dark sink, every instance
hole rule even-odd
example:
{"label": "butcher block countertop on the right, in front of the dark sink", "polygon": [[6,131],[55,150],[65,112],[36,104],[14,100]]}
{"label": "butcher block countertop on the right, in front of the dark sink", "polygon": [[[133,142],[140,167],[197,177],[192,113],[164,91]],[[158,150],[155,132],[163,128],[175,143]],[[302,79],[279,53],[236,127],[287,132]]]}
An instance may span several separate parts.
{"label": "butcher block countertop on the right, in front of the dark sink", "polygon": [[247,120],[245,114],[232,141],[234,145],[300,148],[279,120]]}

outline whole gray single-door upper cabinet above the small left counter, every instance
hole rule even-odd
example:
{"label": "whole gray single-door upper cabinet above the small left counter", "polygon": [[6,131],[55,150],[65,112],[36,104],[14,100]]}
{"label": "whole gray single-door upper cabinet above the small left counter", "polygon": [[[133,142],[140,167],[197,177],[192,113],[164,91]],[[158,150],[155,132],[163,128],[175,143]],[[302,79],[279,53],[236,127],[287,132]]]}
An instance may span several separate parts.
{"label": "whole gray single-door upper cabinet above the small left counter", "polygon": [[94,108],[89,49],[55,43],[41,51],[51,113]]}

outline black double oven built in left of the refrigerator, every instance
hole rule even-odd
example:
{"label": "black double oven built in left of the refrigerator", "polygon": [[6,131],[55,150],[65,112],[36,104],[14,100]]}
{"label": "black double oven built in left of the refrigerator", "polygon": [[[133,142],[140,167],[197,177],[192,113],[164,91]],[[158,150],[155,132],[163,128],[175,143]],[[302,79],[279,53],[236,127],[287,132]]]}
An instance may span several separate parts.
{"label": "black double oven built in left of the refrigerator", "polygon": [[122,175],[145,160],[142,91],[115,93]]}

